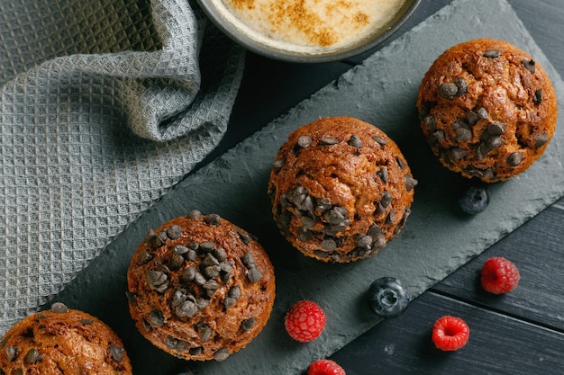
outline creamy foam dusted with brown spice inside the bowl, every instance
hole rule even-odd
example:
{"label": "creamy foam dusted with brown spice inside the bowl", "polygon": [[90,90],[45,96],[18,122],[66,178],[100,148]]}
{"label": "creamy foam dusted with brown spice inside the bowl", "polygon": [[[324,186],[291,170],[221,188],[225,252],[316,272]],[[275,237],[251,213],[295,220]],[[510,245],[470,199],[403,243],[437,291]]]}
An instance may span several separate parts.
{"label": "creamy foam dusted with brown spice inside the bowl", "polygon": [[213,0],[243,33],[278,49],[340,49],[385,27],[406,0]]}

